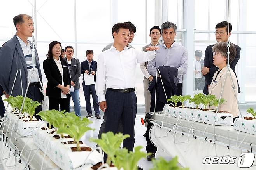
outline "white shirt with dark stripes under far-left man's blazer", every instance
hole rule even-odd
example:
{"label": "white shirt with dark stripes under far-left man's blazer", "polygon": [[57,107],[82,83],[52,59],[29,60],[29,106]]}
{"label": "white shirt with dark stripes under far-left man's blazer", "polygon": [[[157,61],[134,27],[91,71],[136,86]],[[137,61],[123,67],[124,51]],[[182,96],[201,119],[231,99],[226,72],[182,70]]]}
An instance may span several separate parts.
{"label": "white shirt with dark stripes under far-left man's blazer", "polygon": [[[27,65],[27,69],[28,69],[28,81],[30,79],[30,76],[32,74],[32,70],[33,70],[33,64],[32,64],[32,47],[29,41],[27,41],[28,44],[26,44],[25,42],[23,42],[21,40],[21,38],[19,38],[17,35],[16,37],[19,40],[19,43],[21,45],[21,49],[23,51],[23,54],[25,56],[25,61],[26,61],[26,65]],[[39,82],[39,79],[37,77],[38,74],[38,69],[37,69],[37,65],[35,66],[35,71],[33,72],[32,78],[31,78],[31,83],[34,82]]]}

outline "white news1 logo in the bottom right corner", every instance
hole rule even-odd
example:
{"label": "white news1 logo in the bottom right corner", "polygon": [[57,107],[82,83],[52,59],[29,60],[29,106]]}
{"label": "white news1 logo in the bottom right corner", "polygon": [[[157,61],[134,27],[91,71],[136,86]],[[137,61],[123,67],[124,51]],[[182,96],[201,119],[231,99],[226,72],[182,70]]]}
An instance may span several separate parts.
{"label": "white news1 logo in the bottom right corner", "polygon": [[[242,162],[242,158],[244,156],[244,161]],[[255,154],[251,152],[244,152],[241,153],[237,162],[237,166],[239,168],[250,168],[253,165],[255,158]],[[203,164],[234,164],[235,160],[237,159],[236,156],[205,156],[203,158]]]}

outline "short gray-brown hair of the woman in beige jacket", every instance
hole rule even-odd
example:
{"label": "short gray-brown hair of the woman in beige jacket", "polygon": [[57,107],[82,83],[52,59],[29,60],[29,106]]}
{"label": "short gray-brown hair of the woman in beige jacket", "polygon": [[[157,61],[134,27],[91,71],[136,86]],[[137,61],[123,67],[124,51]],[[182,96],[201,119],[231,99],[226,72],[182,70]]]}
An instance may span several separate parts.
{"label": "short gray-brown hair of the woman in beige jacket", "polygon": [[[222,56],[224,56],[225,58],[228,58],[228,45],[226,42],[218,42],[214,44],[214,46],[212,47],[212,52],[215,52],[215,51],[220,52]],[[237,53],[237,50],[235,49],[235,45],[230,44],[229,52],[230,52],[229,62],[231,63]],[[226,60],[226,63],[228,63],[228,60]]]}

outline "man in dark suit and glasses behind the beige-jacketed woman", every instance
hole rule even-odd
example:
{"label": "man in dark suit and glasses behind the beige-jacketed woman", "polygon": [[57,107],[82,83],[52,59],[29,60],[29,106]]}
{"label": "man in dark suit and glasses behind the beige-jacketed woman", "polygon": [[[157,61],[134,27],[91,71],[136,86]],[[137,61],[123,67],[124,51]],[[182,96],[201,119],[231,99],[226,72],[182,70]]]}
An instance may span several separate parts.
{"label": "man in dark suit and glasses behind the beige-jacketed woman", "polygon": [[[231,35],[231,31],[232,31],[232,24],[229,23],[229,28],[228,28],[228,22],[222,21],[215,26],[215,30],[216,30],[215,38],[217,42],[228,42],[228,37]],[[205,87],[203,89],[204,94],[208,94],[208,88],[210,86],[210,83],[212,82],[212,76],[219,69],[213,65],[212,47],[213,45],[209,45],[208,47],[206,47],[206,50],[205,50],[204,67],[202,68],[202,74],[205,76]],[[235,66],[237,65],[237,62],[240,58],[240,51],[241,51],[241,48],[238,45],[235,45],[235,48],[237,50],[237,54],[235,56],[235,59],[230,63],[230,68],[232,68],[234,73],[235,73]],[[238,85],[238,93],[240,93],[239,85]]]}

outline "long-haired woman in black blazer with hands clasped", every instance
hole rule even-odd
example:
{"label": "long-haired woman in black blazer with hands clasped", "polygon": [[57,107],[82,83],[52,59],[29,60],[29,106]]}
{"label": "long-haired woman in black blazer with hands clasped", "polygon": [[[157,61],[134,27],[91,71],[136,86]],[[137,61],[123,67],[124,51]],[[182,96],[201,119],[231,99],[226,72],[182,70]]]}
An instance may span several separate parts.
{"label": "long-haired woman in black blazer with hands clasped", "polygon": [[44,60],[43,68],[48,80],[46,95],[49,97],[49,109],[69,111],[69,87],[71,78],[68,71],[67,61],[61,56],[61,43],[53,41],[49,44],[47,59]]}

